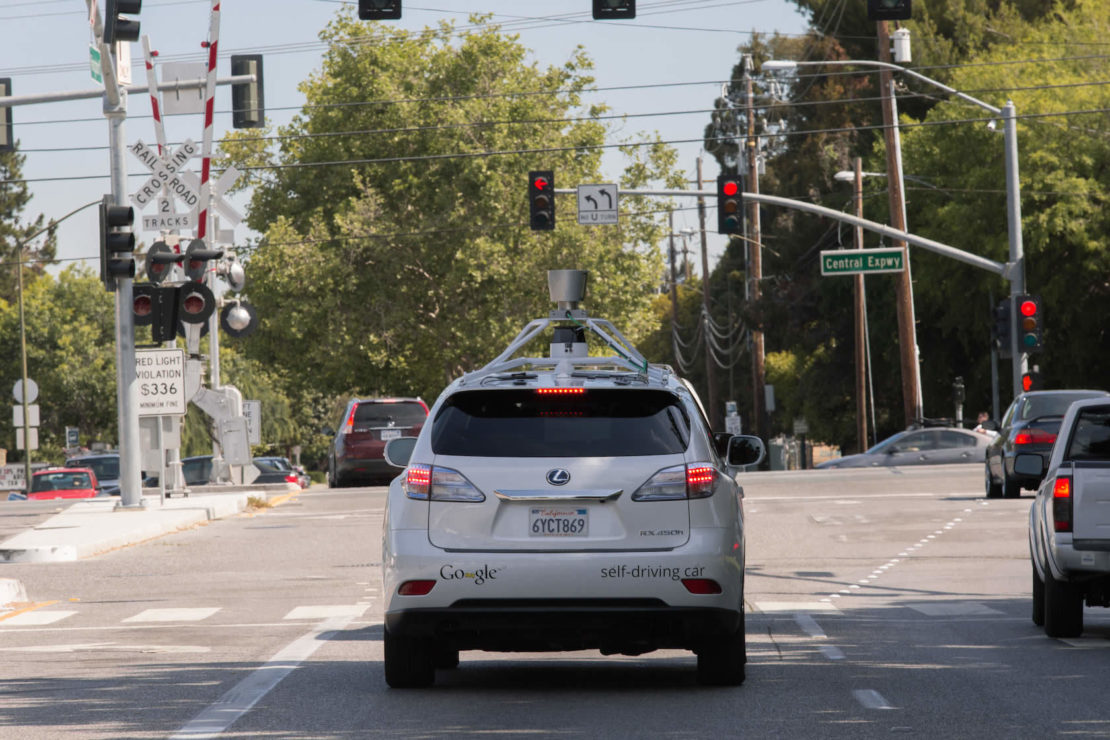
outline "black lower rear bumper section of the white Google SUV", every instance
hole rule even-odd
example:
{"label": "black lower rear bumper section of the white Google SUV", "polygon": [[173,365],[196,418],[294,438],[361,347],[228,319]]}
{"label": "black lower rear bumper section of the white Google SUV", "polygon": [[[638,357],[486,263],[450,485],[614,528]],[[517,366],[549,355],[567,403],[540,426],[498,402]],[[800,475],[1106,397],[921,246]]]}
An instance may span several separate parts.
{"label": "black lower rear bumper section of the white Google SUV", "polygon": [[385,615],[394,635],[434,638],[461,650],[529,652],[698,650],[741,624],[738,611],[669,607],[656,599],[463,599]]}

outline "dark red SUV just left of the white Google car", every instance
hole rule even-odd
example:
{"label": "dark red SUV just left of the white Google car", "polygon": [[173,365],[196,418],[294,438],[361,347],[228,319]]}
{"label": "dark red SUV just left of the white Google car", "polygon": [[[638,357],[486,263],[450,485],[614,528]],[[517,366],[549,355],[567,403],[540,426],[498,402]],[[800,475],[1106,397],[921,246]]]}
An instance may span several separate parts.
{"label": "dark red SUV just left of the white Google car", "polygon": [[327,485],[340,488],[395,476],[397,472],[383,457],[385,443],[401,436],[415,437],[426,418],[427,404],[421,398],[349,402],[327,452]]}

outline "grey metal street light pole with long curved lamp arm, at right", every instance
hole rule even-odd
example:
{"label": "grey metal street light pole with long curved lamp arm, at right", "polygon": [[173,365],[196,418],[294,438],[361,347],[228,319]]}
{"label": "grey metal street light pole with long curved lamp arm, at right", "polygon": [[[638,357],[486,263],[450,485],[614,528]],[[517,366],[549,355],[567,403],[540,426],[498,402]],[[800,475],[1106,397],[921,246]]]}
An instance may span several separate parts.
{"label": "grey metal street light pole with long curved lamp arm, at right", "polygon": [[[764,62],[765,71],[793,70],[797,67],[878,67],[895,72],[900,72],[919,80],[945,92],[959,98],[960,100],[977,105],[993,115],[1002,119],[1006,145],[1006,216],[1009,232],[1009,259],[1002,277],[1010,281],[1010,298],[1015,301],[1017,296],[1026,292],[1025,276],[1025,254],[1021,239],[1021,183],[1018,179],[1018,128],[1017,109],[1012,100],[1008,100],[1003,108],[996,108],[977,98],[950,88],[942,82],[928,78],[914,70],[906,69],[898,64],[871,59],[840,59],[813,62],[795,62],[785,60],[769,60]],[[900,152],[899,152],[900,153]],[[892,214],[891,214],[892,215]],[[1017,332],[1011,332],[1010,348],[1013,354],[1012,381],[1013,395],[1021,393],[1021,375],[1029,368],[1029,355],[1022,351],[1018,342]]]}

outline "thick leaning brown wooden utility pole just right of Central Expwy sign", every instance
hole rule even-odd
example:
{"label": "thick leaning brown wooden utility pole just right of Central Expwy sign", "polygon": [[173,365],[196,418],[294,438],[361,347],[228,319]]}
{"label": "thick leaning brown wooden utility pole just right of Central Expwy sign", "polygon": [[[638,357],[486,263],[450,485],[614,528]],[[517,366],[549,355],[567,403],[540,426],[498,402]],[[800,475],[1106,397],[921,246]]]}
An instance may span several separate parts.
{"label": "thick leaning brown wooden utility pole just right of Central Expwy sign", "polygon": [[[890,37],[887,22],[878,22],[879,61],[890,64]],[[902,189],[901,144],[898,141],[898,112],[895,109],[894,78],[886,67],[879,69],[879,87],[882,95],[882,125],[887,149],[887,193],[890,204],[890,225],[906,231],[906,194]],[[895,282],[895,301],[898,315],[898,347],[901,358],[902,406],[906,426],[919,422],[925,416],[921,407],[920,365],[917,357],[917,332],[914,318],[914,283],[910,277],[909,246],[902,240],[895,240],[895,246],[906,250],[906,270]]]}

